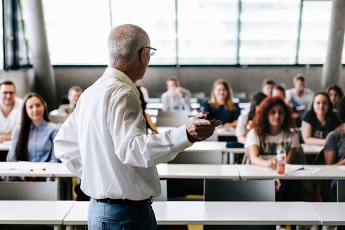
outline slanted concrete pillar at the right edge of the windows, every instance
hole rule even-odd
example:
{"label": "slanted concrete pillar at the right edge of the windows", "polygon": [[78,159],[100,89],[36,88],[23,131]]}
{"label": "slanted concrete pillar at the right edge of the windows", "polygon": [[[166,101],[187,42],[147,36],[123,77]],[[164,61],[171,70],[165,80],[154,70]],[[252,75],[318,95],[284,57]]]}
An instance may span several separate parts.
{"label": "slanted concrete pillar at the right edge of the windows", "polygon": [[322,70],[322,88],[331,83],[339,84],[342,71],[342,50],[345,29],[345,1],[332,1],[331,26],[328,35],[326,63]]}

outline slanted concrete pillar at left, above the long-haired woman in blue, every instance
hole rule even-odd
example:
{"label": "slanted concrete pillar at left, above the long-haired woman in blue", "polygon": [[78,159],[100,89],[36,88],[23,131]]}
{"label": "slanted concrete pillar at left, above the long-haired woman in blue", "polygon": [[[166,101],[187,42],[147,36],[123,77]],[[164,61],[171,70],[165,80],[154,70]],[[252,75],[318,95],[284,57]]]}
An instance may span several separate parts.
{"label": "slanted concrete pillar at left, above the long-haired woman in blue", "polygon": [[41,0],[24,0],[23,15],[34,67],[34,92],[46,99],[48,109],[57,107],[55,75],[50,64],[46,25]]}

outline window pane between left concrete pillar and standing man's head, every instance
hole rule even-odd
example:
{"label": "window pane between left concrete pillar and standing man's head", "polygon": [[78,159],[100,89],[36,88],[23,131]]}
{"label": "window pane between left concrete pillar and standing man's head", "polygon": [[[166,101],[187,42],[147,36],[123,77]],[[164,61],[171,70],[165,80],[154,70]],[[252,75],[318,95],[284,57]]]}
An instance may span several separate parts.
{"label": "window pane between left concrete pillar and standing man's head", "polygon": [[108,63],[108,0],[44,0],[43,8],[53,65]]}

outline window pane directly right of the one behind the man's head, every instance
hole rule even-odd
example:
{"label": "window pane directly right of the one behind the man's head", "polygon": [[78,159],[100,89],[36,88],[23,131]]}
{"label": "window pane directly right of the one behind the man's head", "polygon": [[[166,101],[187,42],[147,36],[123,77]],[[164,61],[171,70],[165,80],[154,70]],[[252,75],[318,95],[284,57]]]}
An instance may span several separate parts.
{"label": "window pane directly right of the one behind the man's head", "polygon": [[179,64],[237,63],[237,0],[178,1]]}

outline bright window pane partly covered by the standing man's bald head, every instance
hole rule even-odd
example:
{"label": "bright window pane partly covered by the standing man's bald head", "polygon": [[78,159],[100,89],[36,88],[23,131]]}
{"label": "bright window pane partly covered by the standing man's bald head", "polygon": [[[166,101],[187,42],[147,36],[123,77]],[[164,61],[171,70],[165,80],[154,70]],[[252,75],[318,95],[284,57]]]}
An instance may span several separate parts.
{"label": "bright window pane partly covered by the standing man's bald head", "polygon": [[151,65],[176,65],[175,0],[112,0],[113,27],[124,23],[139,25],[157,49]]}

